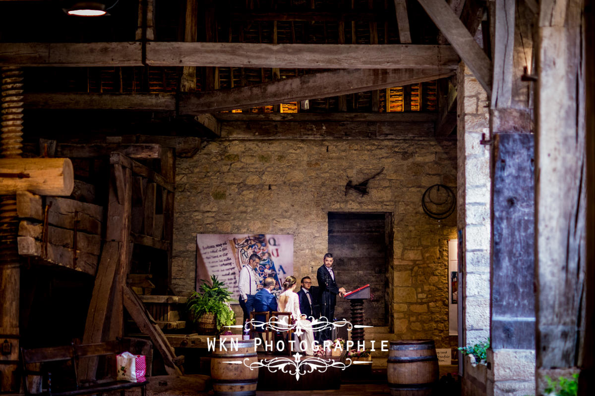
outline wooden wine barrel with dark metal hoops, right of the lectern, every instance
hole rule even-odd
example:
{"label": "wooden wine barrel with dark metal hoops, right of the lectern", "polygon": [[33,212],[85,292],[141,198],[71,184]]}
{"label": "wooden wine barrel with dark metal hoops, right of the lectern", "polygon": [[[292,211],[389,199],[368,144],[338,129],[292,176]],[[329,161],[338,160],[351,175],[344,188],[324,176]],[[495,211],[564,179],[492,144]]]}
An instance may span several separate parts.
{"label": "wooden wine barrel with dark metal hoops, right of the lectern", "polygon": [[391,341],[387,362],[391,395],[434,395],[439,369],[433,340]]}

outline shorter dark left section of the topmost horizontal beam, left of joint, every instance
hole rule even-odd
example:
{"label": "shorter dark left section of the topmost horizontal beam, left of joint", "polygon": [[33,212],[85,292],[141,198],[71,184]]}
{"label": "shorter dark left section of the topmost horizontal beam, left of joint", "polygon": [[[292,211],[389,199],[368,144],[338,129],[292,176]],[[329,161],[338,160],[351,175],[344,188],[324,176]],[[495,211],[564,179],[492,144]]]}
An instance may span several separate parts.
{"label": "shorter dark left section of the topmost horizontal beam, left of joint", "polygon": [[0,66],[142,66],[142,43],[2,43]]}

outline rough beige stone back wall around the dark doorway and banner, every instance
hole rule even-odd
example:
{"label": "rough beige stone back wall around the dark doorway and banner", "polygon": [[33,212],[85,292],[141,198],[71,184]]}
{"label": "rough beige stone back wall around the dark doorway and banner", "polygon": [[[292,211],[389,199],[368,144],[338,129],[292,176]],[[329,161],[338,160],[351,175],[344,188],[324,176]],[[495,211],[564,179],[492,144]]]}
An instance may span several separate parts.
{"label": "rough beige stone back wall around the dark doorway and banner", "polygon": [[[360,182],[382,167],[368,183],[369,195],[345,195],[348,179]],[[456,214],[437,221],[421,207],[425,189],[436,183],[456,187],[455,140],[209,142],[192,159],[177,160],[174,291],[188,294],[195,287],[197,233],[293,234],[294,275],[300,278],[315,275],[322,264],[328,212],[389,212],[390,327],[401,338],[451,346],[447,240],[456,238]]]}

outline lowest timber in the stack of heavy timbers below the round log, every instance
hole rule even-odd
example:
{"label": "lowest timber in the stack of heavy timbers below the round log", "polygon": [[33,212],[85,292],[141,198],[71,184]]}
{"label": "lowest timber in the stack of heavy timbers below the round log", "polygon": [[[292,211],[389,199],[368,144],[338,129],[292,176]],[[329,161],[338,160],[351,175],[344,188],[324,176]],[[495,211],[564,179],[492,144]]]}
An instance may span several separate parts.
{"label": "lowest timber in the stack of heavy timbers below the round log", "polygon": [[44,261],[62,265],[73,270],[95,276],[98,256],[82,251],[74,251],[53,243],[44,244],[30,236],[18,237],[18,254],[40,257]]}

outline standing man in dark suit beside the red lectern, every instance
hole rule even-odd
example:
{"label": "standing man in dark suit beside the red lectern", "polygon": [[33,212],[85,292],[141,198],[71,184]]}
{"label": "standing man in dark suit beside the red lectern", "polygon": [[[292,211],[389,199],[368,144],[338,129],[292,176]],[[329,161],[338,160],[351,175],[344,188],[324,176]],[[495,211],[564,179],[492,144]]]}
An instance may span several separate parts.
{"label": "standing man in dark suit beside the red lectern", "polygon": [[[337,302],[337,294],[343,296],[345,287],[337,286],[333,271],[333,255],[327,253],[323,258],[324,264],[318,268],[316,279],[318,280],[320,315],[325,316],[327,321],[332,322],[334,318],[334,306]],[[331,329],[325,328],[320,332],[319,343],[331,339]]]}

